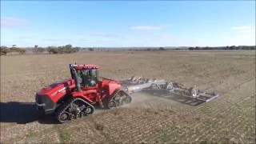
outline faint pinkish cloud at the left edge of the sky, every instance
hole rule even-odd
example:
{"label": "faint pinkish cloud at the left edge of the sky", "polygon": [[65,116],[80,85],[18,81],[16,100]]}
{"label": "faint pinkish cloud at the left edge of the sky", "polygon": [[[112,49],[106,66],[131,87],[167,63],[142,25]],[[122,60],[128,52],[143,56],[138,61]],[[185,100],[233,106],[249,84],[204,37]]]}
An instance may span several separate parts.
{"label": "faint pinkish cloud at the left edge of the sky", "polygon": [[30,22],[25,18],[13,18],[13,17],[4,17],[1,18],[1,27],[4,28],[15,28],[28,26]]}

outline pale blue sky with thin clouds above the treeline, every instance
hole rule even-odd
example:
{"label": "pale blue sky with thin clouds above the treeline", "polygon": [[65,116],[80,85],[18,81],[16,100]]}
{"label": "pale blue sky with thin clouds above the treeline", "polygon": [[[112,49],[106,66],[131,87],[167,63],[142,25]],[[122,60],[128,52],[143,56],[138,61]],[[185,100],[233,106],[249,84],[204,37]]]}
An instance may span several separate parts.
{"label": "pale blue sky with thin clouds above the treeline", "polygon": [[1,1],[1,46],[255,45],[254,1]]}

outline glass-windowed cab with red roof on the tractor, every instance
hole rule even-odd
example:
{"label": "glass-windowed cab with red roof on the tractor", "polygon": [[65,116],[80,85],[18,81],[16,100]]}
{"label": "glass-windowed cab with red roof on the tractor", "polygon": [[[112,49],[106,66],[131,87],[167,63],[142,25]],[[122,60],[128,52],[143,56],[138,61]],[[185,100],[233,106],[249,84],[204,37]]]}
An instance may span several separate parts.
{"label": "glass-windowed cab with red roof on the tractor", "polygon": [[95,86],[98,82],[98,66],[95,65],[70,64],[70,74],[78,90],[81,90],[81,87]]}

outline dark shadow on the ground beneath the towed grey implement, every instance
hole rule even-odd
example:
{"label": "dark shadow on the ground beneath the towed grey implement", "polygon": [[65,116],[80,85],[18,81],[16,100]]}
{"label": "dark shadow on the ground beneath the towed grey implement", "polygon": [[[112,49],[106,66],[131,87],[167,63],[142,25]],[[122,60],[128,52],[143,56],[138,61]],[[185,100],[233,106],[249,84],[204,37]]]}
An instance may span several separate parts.
{"label": "dark shadow on the ground beneath the towed grey implement", "polygon": [[170,99],[172,101],[180,102],[189,106],[198,106],[204,103],[204,101],[200,101],[195,98],[189,98],[179,94],[170,94],[170,92],[167,90],[142,90],[142,92],[153,95],[155,97]]}

